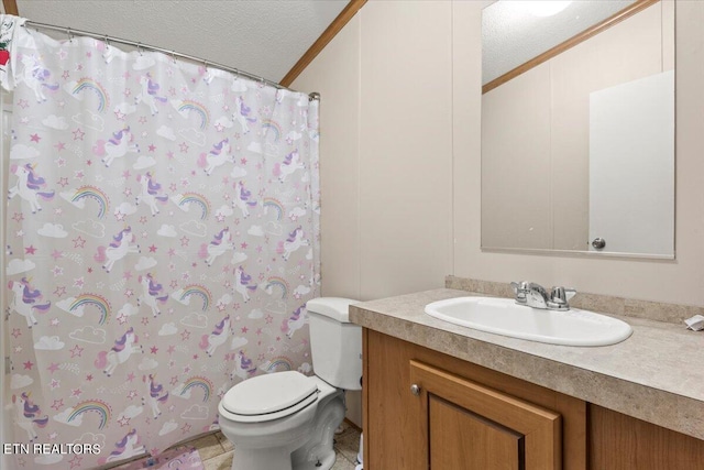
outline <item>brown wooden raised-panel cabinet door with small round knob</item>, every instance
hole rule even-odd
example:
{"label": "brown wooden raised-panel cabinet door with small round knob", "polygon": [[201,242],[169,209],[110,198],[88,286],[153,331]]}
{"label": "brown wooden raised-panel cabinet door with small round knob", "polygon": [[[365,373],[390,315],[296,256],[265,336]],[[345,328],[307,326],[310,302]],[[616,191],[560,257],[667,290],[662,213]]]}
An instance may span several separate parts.
{"label": "brown wooden raised-panel cabinet door with small round knob", "polygon": [[431,470],[559,470],[561,417],[441,369],[410,361]]}

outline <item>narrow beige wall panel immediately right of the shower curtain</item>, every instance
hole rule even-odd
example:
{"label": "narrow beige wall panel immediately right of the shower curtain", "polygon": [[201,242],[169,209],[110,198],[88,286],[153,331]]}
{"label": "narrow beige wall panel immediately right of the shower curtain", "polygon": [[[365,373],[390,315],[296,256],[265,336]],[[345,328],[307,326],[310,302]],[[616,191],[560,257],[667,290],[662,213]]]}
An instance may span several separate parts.
{"label": "narrow beige wall panel immediately right of the shower curtain", "polygon": [[293,87],[321,95],[322,295],[361,299],[359,18],[346,24]]}

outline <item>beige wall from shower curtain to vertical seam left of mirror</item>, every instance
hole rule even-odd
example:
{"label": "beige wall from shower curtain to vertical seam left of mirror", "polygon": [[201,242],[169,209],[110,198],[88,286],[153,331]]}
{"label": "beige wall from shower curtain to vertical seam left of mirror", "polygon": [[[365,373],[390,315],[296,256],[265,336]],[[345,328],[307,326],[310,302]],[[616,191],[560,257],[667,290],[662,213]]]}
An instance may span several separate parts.
{"label": "beige wall from shower curtain to vertical seam left of mirror", "polygon": [[371,1],[293,88],[321,94],[322,294],[452,272],[452,4]]}

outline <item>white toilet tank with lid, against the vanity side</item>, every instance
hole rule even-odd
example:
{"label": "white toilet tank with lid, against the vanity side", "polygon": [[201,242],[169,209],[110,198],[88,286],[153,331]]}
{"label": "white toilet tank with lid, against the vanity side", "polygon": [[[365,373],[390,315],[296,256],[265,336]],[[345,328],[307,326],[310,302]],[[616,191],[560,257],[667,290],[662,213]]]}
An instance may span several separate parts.
{"label": "white toilet tank with lid, against the vanity side", "polygon": [[359,302],[319,297],[306,304],[314,372],[338,389],[362,389],[362,328],[351,324],[348,314]]}

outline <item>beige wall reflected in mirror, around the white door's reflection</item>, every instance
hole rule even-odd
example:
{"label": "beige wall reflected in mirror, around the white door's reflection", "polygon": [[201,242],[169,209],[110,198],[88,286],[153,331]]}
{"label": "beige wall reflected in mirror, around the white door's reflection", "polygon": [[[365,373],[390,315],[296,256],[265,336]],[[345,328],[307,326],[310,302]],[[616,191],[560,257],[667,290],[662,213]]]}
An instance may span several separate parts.
{"label": "beige wall reflected in mirror, around the white door's reflection", "polygon": [[666,6],[671,10],[671,2],[653,4],[483,95],[484,247],[588,249],[590,94],[672,69]]}

